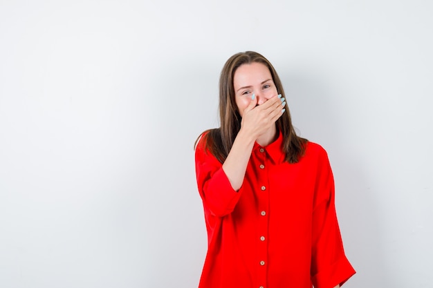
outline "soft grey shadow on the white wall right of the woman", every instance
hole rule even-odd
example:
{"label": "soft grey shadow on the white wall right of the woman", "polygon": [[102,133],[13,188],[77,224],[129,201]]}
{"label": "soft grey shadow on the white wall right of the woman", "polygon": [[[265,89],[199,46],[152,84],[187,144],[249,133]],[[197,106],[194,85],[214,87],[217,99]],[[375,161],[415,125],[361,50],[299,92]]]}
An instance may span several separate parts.
{"label": "soft grey shadow on the white wall right of the woman", "polygon": [[321,144],[329,154],[344,248],[357,271],[348,286],[398,287],[398,276],[387,278],[383,220],[366,168],[357,157],[362,153],[351,148],[351,142],[356,141],[351,135],[357,132],[344,131],[342,127],[342,123],[351,121],[339,111],[344,109],[340,99],[347,95],[331,88],[325,75],[292,70],[282,71],[280,77],[297,132]]}

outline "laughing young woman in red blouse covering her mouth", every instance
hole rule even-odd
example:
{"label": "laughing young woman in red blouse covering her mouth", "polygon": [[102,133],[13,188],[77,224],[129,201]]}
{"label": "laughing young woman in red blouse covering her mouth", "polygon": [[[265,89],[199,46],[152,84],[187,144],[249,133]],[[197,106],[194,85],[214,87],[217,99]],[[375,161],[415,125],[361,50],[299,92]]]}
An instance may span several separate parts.
{"label": "laughing young woman in red blouse covering her mouth", "polygon": [[196,144],[208,230],[199,288],[333,288],[355,271],[342,246],[326,151],[298,137],[281,81],[257,52],[225,63],[221,127]]}

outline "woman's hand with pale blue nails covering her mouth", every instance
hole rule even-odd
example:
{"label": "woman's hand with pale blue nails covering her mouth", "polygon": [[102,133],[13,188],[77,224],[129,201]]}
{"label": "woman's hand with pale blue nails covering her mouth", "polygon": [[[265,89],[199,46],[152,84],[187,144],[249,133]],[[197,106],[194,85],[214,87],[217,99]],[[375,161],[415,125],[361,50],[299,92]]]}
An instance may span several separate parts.
{"label": "woman's hand with pale blue nails covering her mouth", "polygon": [[257,97],[252,97],[250,104],[243,111],[241,131],[255,137],[266,133],[284,113],[284,98],[275,95],[257,106]]}

